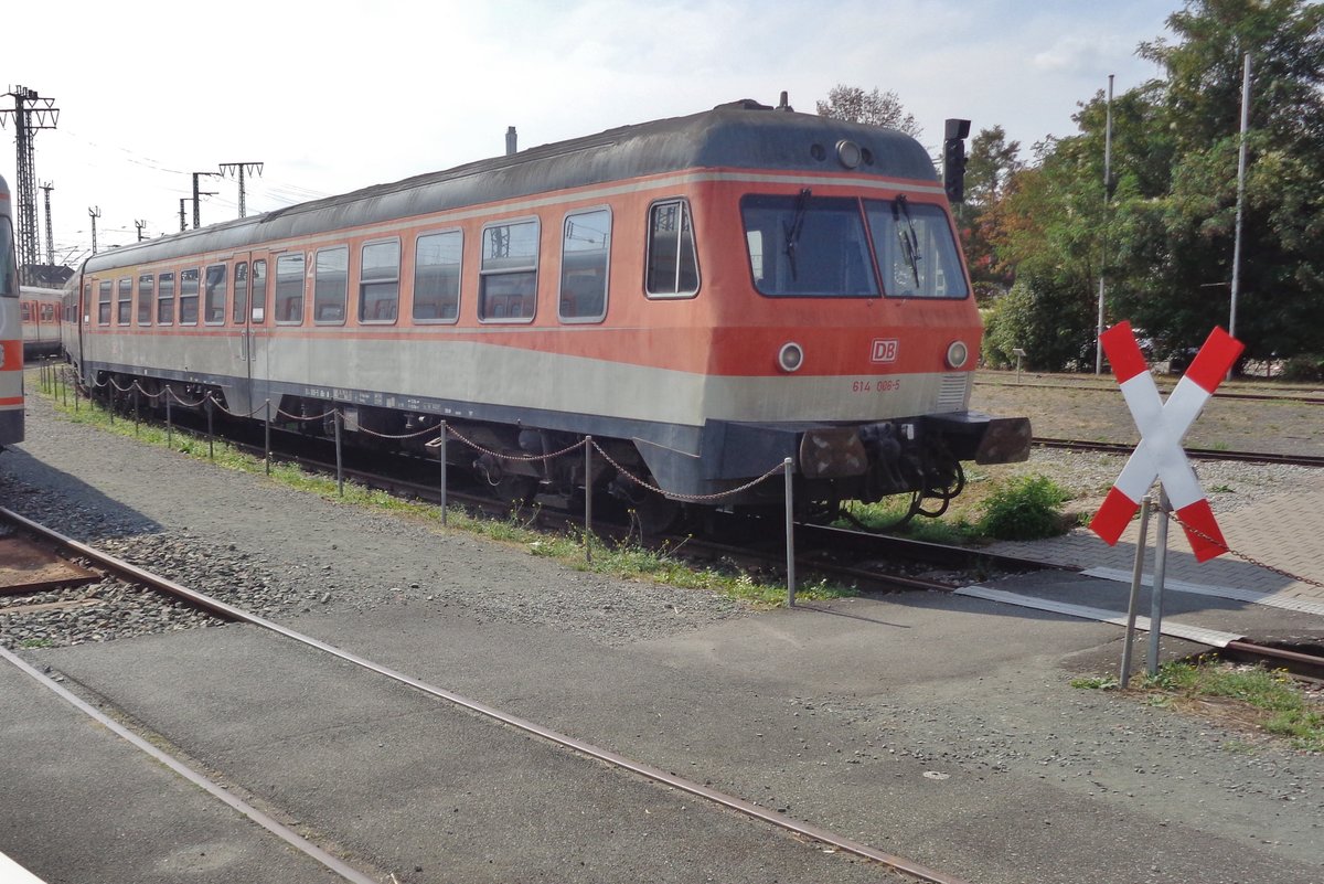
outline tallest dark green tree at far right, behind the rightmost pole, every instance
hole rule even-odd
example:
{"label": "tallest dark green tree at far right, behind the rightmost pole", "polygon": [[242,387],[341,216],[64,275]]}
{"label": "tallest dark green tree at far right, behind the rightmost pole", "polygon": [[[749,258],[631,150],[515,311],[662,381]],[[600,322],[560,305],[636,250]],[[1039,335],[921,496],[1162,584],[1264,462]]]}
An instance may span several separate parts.
{"label": "tallest dark green tree at far right, behind the rightmost pole", "polygon": [[1170,139],[1170,187],[1151,267],[1117,310],[1169,345],[1229,322],[1237,216],[1242,58],[1250,53],[1250,165],[1237,336],[1246,357],[1320,348],[1324,323],[1324,5],[1188,0],[1168,19],[1178,42],[1143,44],[1165,77],[1148,86]]}

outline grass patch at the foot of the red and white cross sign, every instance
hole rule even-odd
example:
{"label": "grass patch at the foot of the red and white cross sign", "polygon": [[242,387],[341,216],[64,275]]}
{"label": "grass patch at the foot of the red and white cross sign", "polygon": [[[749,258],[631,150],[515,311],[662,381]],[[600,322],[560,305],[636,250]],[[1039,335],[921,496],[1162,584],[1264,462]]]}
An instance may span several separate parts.
{"label": "grass patch at the foot of the red and white cross sign", "polygon": [[[1115,689],[1117,680],[1082,678],[1071,685]],[[1133,679],[1132,687],[1148,705],[1192,712],[1274,734],[1296,749],[1324,752],[1324,700],[1307,693],[1283,670],[1202,656],[1168,663],[1155,675]],[[1230,752],[1246,750],[1243,741],[1227,746]]]}

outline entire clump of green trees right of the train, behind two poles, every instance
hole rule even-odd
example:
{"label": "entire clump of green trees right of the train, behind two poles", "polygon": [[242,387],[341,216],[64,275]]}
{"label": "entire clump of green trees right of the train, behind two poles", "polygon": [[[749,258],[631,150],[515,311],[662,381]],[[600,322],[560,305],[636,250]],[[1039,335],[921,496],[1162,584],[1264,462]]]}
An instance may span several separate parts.
{"label": "entire clump of green trees right of the train, behind two poles", "polygon": [[[1129,319],[1161,349],[1200,344],[1229,322],[1237,216],[1242,56],[1255,64],[1237,336],[1246,356],[1321,349],[1324,326],[1324,5],[1188,0],[1173,42],[1143,44],[1164,74],[1112,105],[1082,105],[1079,132],[1035,146],[984,213],[994,257],[1066,311],[1062,330],[1094,347],[1080,304],[1103,274],[1108,320]],[[1051,292],[1053,296],[1045,296]],[[1035,316],[1035,322],[1041,318]],[[1022,344],[1023,345],[1023,344]],[[1029,347],[1026,348],[1029,349]],[[1071,360],[1071,348],[1051,348]]]}

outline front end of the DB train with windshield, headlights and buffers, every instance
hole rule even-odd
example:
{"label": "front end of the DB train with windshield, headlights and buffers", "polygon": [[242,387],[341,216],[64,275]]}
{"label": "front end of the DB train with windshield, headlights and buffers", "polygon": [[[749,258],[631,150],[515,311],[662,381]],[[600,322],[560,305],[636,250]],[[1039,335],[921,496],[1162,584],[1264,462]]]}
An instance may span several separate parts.
{"label": "front end of the DB train with windshield, headlights and buffers", "polygon": [[720,457],[649,449],[654,475],[714,494],[790,458],[809,502],[949,499],[963,461],[1026,459],[1026,418],[969,410],[982,330],[941,185],[768,177],[695,201]]}

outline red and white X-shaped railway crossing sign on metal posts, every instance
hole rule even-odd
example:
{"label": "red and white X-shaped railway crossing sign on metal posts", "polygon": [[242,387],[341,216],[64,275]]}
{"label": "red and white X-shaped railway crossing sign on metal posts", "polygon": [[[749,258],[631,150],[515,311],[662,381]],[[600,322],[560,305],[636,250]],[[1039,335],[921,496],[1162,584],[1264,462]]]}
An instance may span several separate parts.
{"label": "red and white X-shaped railway crossing sign on metal posts", "polygon": [[1218,389],[1245,344],[1222,328],[1214,328],[1186,375],[1164,402],[1158,398],[1158,388],[1149,375],[1131,323],[1117,323],[1103,332],[1099,341],[1112,363],[1127,408],[1140,427],[1140,445],[1121,468],[1121,475],[1095,513],[1090,529],[1110,547],[1116,544],[1127,523],[1140,509],[1140,500],[1155,479],[1158,479],[1177,512],[1177,520],[1186,531],[1196,561],[1221,556],[1227,552],[1227,544],[1205,491],[1200,487],[1200,479],[1186,461],[1181,439]]}

